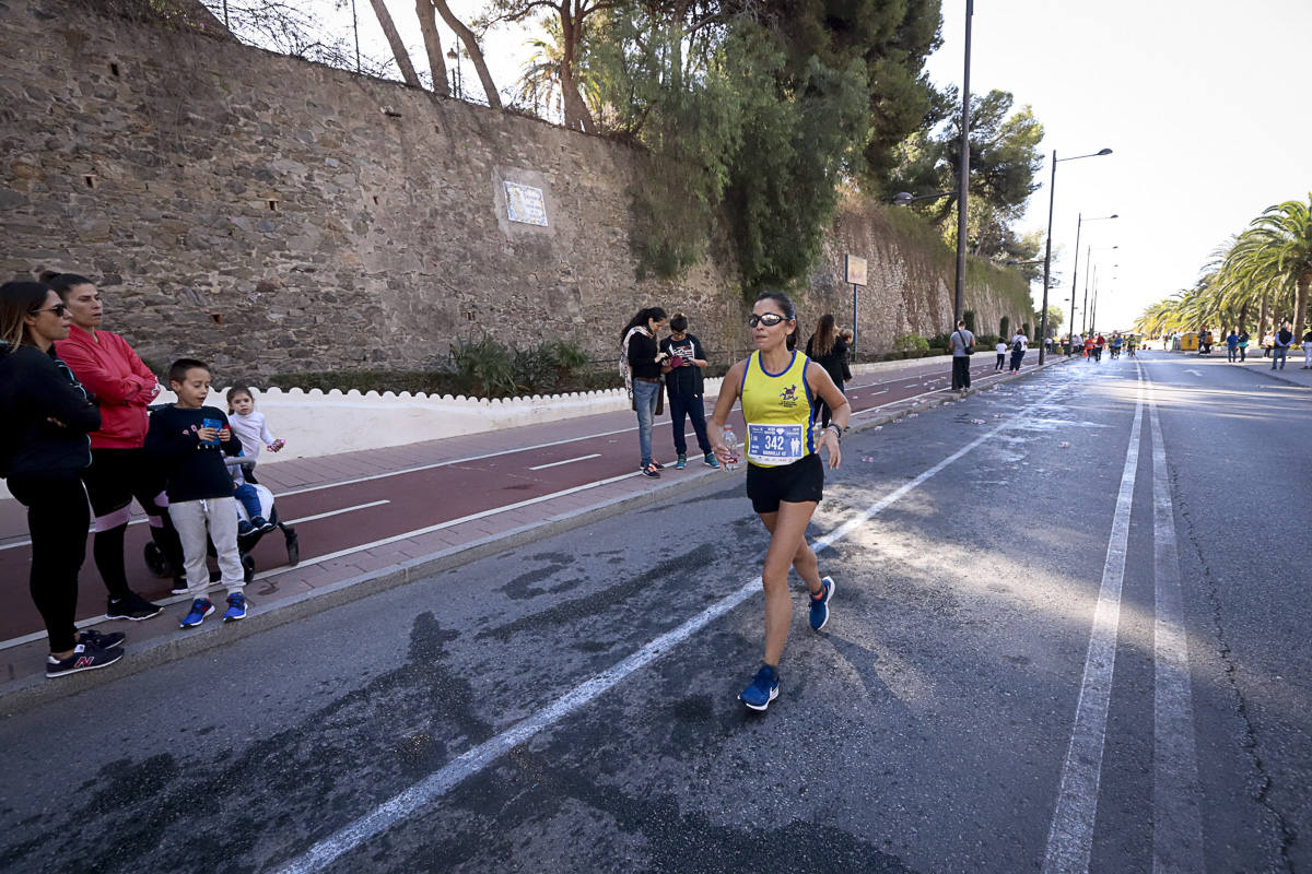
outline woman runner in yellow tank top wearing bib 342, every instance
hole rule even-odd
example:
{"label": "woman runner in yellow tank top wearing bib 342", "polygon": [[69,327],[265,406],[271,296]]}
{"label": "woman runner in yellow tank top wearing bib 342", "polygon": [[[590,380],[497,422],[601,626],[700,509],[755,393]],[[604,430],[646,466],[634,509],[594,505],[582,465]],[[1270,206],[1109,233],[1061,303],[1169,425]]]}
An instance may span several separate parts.
{"label": "woman runner in yellow tank top wearing bib 342", "polygon": [[[829,448],[829,469],[836,469],[842,460],[838,439],[848,427],[851,408],[824,368],[794,349],[798,318],[787,295],[768,291],[758,296],[748,325],[756,351],[724,376],[707,431],[715,455],[722,463],[728,461],[724,422],[735,401],[743,398],[747,495],[770,532],[770,546],[761,571],[765,656],[739,698],[753,710],[765,710],[779,694],[779,658],[792,621],[790,566],[811,591],[811,628],[819,632],[829,621],[834,582],[830,577],[821,579],[806,532],[824,490],[820,447]],[[813,421],[819,401],[832,411],[828,427]]]}

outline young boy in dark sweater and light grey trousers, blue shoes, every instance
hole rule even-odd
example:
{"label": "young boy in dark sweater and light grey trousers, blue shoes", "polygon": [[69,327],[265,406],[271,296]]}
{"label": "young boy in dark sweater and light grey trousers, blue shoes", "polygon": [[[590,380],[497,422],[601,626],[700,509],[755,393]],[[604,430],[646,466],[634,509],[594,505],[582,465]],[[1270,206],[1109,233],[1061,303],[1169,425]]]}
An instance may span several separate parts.
{"label": "young boy in dark sweater and light grey trousers, blue shoes", "polygon": [[182,566],[192,596],[192,609],[182,618],[182,628],[199,625],[214,612],[214,604],[206,598],[210,588],[206,535],[214,542],[220,583],[228,591],[223,621],[232,622],[247,615],[236,498],[232,497],[232,476],[223,461],[223,453],[241,455],[241,442],[228,427],[227,414],[205,405],[210,379],[205,362],[194,358],[173,362],[168,381],[177,402],[151,414],[151,427],[146,432],[146,452],[157,459],[164,470],[168,515],[182,540]]}

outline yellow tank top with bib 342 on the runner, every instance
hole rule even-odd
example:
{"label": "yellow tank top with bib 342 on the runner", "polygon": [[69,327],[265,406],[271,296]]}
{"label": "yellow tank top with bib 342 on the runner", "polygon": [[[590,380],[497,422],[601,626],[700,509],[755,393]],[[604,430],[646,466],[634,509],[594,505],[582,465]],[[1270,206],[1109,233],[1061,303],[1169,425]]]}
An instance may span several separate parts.
{"label": "yellow tank top with bib 342 on the runner", "polygon": [[747,359],[741,396],[750,464],[777,468],[816,451],[806,379],[810,363],[810,358],[794,350],[783,372],[770,373],[761,366],[760,351]]}

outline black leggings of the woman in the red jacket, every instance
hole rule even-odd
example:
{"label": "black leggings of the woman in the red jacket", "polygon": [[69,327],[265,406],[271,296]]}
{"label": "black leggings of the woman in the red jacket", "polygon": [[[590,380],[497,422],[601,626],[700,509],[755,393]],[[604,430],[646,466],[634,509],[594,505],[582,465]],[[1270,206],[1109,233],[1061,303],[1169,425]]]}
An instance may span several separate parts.
{"label": "black leggings of the woman in the red jacket", "polygon": [[182,569],[182,545],[173,529],[167,506],[160,503],[164,480],[143,449],[92,449],[91,466],[83,470],[87,495],[96,514],[92,556],[105,588],[114,600],[126,598],[127,571],[123,563],[123,536],[133,498],[150,518],[151,539],[168,558],[176,574]]}

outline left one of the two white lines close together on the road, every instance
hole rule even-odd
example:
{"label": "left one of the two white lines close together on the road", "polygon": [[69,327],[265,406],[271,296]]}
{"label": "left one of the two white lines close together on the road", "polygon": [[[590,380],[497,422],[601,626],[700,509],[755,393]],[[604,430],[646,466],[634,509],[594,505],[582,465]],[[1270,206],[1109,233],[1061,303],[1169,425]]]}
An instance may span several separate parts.
{"label": "left one of the two white lines close together on the road", "polygon": [[1102,751],[1107,735],[1107,705],[1111,700],[1111,675],[1117,664],[1120,583],[1126,575],[1130,510],[1135,495],[1139,436],[1143,430],[1143,371],[1136,367],[1135,373],[1139,379],[1135,419],[1130,427],[1130,447],[1126,449],[1126,465],[1120,474],[1117,511],[1111,518],[1107,560],[1102,567],[1102,586],[1093,613],[1093,630],[1089,634],[1071,746],[1061,767],[1061,789],[1057,791],[1056,810],[1052,812],[1043,874],[1085,874],[1089,870],[1089,856],[1093,849],[1098,781],[1102,776]]}

